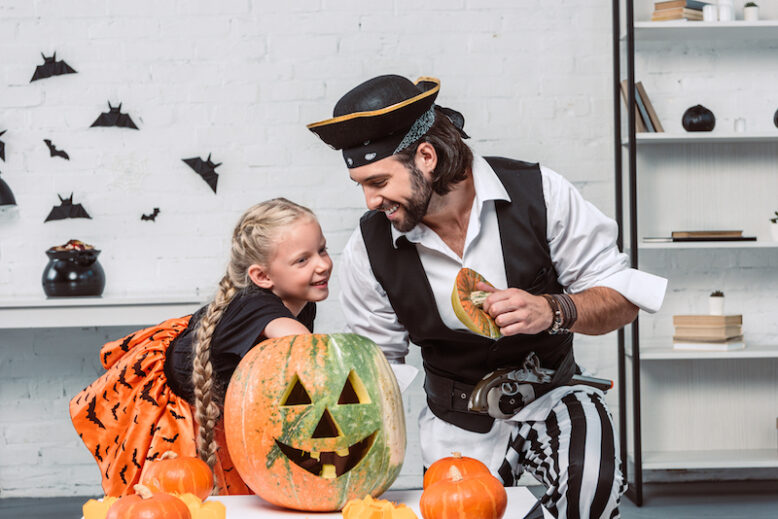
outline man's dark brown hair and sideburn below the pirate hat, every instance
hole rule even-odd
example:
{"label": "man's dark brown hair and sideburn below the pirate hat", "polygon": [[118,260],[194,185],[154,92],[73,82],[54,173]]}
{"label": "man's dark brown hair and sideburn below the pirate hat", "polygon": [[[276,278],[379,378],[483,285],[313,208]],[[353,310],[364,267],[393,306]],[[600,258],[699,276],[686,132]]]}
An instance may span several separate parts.
{"label": "man's dark brown hair and sideburn below the pirate hat", "polygon": [[435,109],[435,122],[429,131],[421,139],[404,150],[398,151],[394,156],[406,168],[410,169],[415,166],[416,150],[422,142],[432,144],[438,156],[438,164],[432,172],[432,190],[439,195],[445,195],[451,191],[454,184],[467,177],[467,171],[473,165],[473,152],[462,140],[459,130],[437,108]]}

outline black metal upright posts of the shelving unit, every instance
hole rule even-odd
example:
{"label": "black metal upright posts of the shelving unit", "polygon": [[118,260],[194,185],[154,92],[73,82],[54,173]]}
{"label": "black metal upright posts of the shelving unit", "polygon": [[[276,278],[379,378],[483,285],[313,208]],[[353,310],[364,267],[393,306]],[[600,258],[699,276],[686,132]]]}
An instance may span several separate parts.
{"label": "black metal upright posts of the shelving unit", "polygon": [[[624,251],[624,149],[621,142],[622,100],[621,100],[621,3],[612,0],[613,24],[613,122],[614,122],[614,185],[616,190],[616,223],[618,224],[617,243]],[[635,13],[634,0],[624,0],[624,41],[627,74],[627,197],[629,199],[629,258],[632,268],[638,267],[637,233],[637,146],[635,142]],[[629,421],[627,412],[627,359],[626,331],[618,331],[618,384],[619,384],[619,445],[621,472],[627,482],[627,497],[637,506],[643,505],[643,454],[641,438],[640,411],[640,334],[639,319],[629,325],[630,348],[632,351],[631,396],[632,396],[632,456],[633,479],[630,480],[628,463],[627,434]]]}

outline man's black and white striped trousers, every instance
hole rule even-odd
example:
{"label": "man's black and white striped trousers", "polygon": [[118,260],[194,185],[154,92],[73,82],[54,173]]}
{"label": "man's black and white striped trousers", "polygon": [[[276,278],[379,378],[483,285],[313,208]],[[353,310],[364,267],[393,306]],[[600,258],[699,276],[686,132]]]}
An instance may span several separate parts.
{"label": "man's black and white striped trousers", "polygon": [[619,517],[626,485],[602,394],[574,391],[545,421],[517,423],[499,476],[513,486],[524,470],[546,486],[541,502],[557,518]]}

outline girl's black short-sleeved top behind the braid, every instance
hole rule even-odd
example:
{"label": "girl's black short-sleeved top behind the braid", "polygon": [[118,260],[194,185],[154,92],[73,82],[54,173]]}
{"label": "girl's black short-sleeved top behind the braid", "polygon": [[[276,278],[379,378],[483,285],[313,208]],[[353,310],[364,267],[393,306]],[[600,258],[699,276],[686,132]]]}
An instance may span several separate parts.
{"label": "girl's black short-sleeved top behind the braid", "polygon": [[[165,359],[168,385],[176,395],[189,403],[194,403],[192,346],[197,323],[206,309],[207,306],[204,306],[192,315],[187,328],[170,343]],[[300,315],[295,317],[278,296],[256,286],[239,292],[230,301],[211,338],[211,364],[218,394],[224,395],[240,360],[251,348],[266,339],[265,328],[270,321],[279,317],[297,319],[313,332],[316,304],[306,304]]]}

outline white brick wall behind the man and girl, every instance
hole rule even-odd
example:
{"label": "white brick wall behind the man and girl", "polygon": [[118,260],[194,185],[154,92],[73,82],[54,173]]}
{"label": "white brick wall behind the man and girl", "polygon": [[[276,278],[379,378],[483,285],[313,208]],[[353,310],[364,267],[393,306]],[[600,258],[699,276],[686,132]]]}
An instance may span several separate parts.
{"label": "white brick wall behind the man and girl", "polygon": [[[607,2],[3,0],[0,34],[0,170],[19,203],[0,216],[3,299],[39,295],[44,251],[70,238],[103,251],[105,295],[209,294],[239,214],[280,195],[317,212],[337,269],[363,199],[305,124],[383,73],[440,77],[477,152],[541,161],[613,212]],[[30,84],[53,51],[78,74]],[[90,129],[108,100],[140,131]],[[180,160],[208,153],[223,162],[217,195]],[[44,224],[70,192],[93,219]],[[141,222],[153,207],[157,222]],[[342,328],[337,296],[336,280],[317,330]],[[67,402],[99,374],[99,346],[128,331],[0,331],[0,497],[99,493]],[[615,376],[612,336],[578,344],[580,362]],[[416,485],[421,380],[405,399],[398,484]]]}

